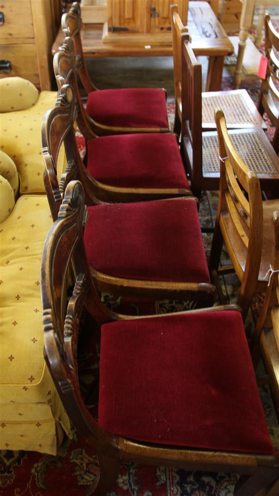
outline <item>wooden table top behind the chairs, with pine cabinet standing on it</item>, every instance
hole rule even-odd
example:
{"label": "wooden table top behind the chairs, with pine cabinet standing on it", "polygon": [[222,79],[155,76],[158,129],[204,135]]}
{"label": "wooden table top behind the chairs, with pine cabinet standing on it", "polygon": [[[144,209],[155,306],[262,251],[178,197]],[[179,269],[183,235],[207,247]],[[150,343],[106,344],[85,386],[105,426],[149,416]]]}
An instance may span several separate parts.
{"label": "wooden table top behind the chairs, with pine cabinet standing on it", "polygon": [[[224,56],[233,53],[232,43],[207,2],[189,2],[188,28],[195,55]],[[130,38],[125,44],[103,43],[101,24],[85,24],[81,32],[85,57],[172,55],[171,33],[165,35],[163,44],[152,45],[154,37],[156,35],[147,34],[148,44],[133,42]],[[52,46],[52,55],[61,49],[63,40],[64,34],[60,28]]]}

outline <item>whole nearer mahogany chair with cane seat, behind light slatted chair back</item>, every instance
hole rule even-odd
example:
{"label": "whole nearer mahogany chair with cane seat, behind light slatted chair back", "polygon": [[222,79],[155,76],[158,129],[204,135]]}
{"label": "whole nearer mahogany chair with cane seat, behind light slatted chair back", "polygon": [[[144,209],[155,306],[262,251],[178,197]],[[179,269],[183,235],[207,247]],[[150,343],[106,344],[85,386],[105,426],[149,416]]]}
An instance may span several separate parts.
{"label": "whole nearer mahogany chair with cane seat, behind light slatted chair back", "polygon": [[[188,36],[188,35],[185,35]],[[219,188],[219,146],[216,131],[202,132],[201,64],[189,40],[182,45],[182,154],[191,180],[191,190],[200,197],[202,190]],[[278,196],[279,158],[259,127],[229,130],[239,156],[257,174],[262,189]]]}

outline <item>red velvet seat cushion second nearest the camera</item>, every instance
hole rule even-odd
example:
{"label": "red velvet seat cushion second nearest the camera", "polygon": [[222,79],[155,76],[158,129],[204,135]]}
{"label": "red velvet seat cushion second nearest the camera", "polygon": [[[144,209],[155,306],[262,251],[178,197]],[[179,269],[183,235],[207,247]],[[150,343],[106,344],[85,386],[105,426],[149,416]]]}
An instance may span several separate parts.
{"label": "red velvet seat cushion second nearest the camera", "polygon": [[89,207],[84,241],[89,265],[107,274],[210,282],[194,200]]}

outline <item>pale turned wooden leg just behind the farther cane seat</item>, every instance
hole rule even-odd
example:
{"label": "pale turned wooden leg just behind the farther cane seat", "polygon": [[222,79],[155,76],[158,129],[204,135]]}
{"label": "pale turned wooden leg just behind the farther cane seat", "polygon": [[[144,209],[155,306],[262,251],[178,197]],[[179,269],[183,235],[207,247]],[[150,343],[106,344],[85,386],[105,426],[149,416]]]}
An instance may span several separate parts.
{"label": "pale turned wooden leg just behind the farther cane seat", "polygon": [[234,80],[233,80],[234,89],[237,89],[239,87],[241,81],[243,55],[246,47],[246,40],[248,37],[248,29],[251,27],[253,20],[253,13],[254,13],[254,0],[243,0],[241,17],[240,17],[238,53],[237,53],[236,68],[235,68]]}

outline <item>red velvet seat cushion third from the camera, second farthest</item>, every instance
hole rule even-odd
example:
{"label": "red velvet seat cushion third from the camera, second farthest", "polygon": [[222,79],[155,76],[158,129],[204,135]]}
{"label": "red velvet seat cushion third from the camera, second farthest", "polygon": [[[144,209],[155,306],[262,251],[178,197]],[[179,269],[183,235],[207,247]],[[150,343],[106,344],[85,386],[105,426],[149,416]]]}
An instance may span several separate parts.
{"label": "red velvet seat cushion third from the camera, second farthest", "polygon": [[172,134],[93,139],[88,142],[87,170],[98,181],[123,188],[190,188]]}

